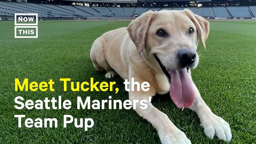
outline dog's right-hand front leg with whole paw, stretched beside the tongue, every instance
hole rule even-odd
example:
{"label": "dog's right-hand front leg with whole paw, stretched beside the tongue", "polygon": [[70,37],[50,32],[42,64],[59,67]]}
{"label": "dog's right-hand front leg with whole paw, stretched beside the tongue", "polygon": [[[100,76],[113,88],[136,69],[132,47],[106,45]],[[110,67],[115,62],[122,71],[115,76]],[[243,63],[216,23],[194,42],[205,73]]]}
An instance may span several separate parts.
{"label": "dog's right-hand front leg with whole paw, stretched beside the tongue", "polygon": [[229,124],[212,113],[194,83],[193,88],[195,90],[195,99],[190,109],[197,113],[206,136],[212,139],[216,135],[220,140],[231,141],[232,134]]}

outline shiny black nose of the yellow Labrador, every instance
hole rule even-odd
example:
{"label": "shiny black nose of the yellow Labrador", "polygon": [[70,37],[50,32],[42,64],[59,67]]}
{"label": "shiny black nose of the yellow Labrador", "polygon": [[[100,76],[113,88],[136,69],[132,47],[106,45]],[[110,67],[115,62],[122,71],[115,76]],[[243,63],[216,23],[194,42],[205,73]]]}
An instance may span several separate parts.
{"label": "shiny black nose of the yellow Labrador", "polygon": [[184,66],[191,65],[196,61],[196,52],[190,49],[179,50],[178,59]]}

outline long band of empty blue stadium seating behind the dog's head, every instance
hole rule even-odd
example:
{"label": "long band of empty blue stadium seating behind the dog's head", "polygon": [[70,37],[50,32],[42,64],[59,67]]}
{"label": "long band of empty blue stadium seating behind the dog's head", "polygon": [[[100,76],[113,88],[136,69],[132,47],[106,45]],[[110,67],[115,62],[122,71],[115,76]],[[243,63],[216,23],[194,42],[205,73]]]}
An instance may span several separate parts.
{"label": "long band of empty blue stadium seating behind the dog's head", "polygon": [[190,9],[203,17],[234,18],[256,17],[256,6],[210,6],[210,7],[103,7],[76,6],[59,4],[38,4],[0,1],[0,15],[13,16],[15,13],[38,13],[39,17],[81,17],[81,18],[131,18],[140,16],[147,10],[183,10]]}

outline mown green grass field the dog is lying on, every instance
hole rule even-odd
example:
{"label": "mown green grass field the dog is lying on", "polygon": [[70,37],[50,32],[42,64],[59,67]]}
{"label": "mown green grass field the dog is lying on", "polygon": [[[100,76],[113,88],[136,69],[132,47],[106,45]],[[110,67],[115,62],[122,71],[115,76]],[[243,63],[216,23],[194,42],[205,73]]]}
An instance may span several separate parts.
{"label": "mown green grass field the dog is lying on", "polygon": [[[14,38],[14,21],[0,22],[0,143],[15,144],[159,144],[153,126],[134,110],[77,110],[77,97],[105,100],[108,96],[128,99],[120,77],[106,79],[90,61],[93,41],[109,30],[127,26],[129,21],[40,21],[38,38]],[[200,62],[192,71],[199,91],[212,111],[230,123],[231,144],[256,142],[256,21],[210,21],[207,48],[199,45]],[[116,81],[119,92],[63,91],[59,78],[71,81]],[[55,82],[55,91],[15,91],[15,78],[29,82]],[[17,96],[44,100],[62,96],[72,102],[69,110],[15,109]],[[199,126],[197,115],[178,109],[169,95],[157,96],[153,105],[166,113],[193,144],[223,144],[209,140]],[[18,128],[18,118],[56,118],[58,128]],[[63,128],[63,115],[94,119],[93,128]]]}

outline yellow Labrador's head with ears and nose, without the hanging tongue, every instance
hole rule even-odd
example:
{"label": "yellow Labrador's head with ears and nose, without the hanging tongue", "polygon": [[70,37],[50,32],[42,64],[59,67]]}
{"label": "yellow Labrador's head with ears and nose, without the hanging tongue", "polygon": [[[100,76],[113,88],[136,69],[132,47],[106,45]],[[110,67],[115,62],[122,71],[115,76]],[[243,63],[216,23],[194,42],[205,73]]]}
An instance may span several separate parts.
{"label": "yellow Labrador's head with ears and nose, without the hanging tongue", "polygon": [[188,9],[149,11],[127,29],[138,52],[155,54],[163,66],[175,70],[197,66],[197,38],[205,47],[209,22]]}

